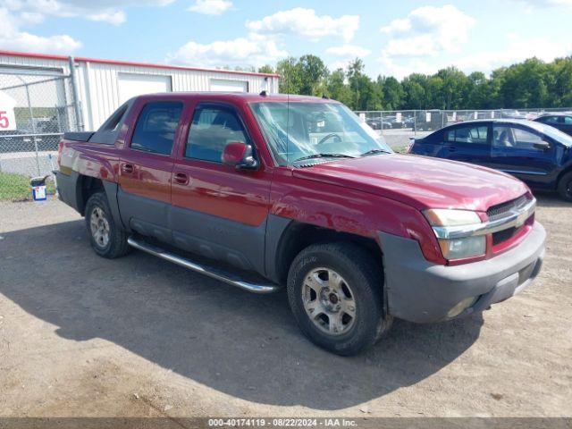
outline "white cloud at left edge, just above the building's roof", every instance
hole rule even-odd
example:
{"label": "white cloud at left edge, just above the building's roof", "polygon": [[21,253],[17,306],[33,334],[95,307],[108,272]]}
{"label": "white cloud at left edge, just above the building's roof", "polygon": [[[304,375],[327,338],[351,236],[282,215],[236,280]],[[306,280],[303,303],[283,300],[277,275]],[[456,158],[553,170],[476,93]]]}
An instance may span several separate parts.
{"label": "white cloud at left edge, just above the building's roof", "polygon": [[0,49],[33,51],[54,54],[71,54],[81,46],[81,43],[67,35],[41,37],[21,31],[22,22],[29,17],[19,18],[5,8],[0,8],[0,22],[3,23],[0,32]]}

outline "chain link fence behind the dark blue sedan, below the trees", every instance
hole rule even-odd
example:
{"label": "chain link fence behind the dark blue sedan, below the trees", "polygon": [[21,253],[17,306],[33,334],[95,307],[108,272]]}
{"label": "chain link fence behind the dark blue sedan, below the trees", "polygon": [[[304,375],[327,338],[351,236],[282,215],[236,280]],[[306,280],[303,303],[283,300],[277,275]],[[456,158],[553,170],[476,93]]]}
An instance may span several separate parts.
{"label": "chain link fence behind the dark blue sedan, below the trees", "polygon": [[403,151],[410,139],[423,137],[434,130],[453,123],[475,119],[528,119],[549,112],[572,112],[572,108],[538,108],[526,110],[399,110],[357,111],[356,114],[374,130],[383,135],[395,150]]}

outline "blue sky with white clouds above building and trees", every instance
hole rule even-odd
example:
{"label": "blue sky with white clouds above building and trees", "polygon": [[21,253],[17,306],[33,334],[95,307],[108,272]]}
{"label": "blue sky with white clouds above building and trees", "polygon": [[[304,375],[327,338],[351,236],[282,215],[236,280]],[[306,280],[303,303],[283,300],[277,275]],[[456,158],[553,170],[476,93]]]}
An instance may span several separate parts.
{"label": "blue sky with white clouds above building and trees", "polygon": [[2,0],[0,49],[218,67],[314,54],[400,79],[572,55],[572,0]]}

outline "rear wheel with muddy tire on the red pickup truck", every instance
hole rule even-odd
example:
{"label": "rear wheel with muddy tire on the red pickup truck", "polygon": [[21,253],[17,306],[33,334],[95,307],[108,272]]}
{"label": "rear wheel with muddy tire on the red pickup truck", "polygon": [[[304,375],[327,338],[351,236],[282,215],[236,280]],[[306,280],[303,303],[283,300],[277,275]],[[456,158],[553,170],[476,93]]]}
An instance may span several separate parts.
{"label": "rear wheel with muddy tire on the red pickup truck", "polygon": [[127,234],[114,222],[105,192],[97,192],[88,199],[85,213],[89,242],[97,255],[113,259],[129,253]]}

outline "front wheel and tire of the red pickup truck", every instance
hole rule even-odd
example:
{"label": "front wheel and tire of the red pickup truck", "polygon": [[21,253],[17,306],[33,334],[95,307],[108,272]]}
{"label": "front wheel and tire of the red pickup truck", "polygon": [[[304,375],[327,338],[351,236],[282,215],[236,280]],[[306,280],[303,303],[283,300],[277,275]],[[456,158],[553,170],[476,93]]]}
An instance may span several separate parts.
{"label": "front wheel and tire of the red pickup truck", "polygon": [[357,355],[391,326],[383,311],[381,266],[353,243],[302,250],[290,266],[288,299],[302,332],[341,356]]}

